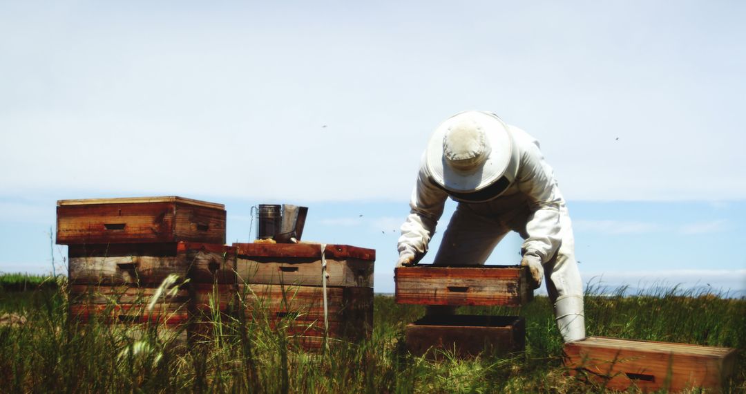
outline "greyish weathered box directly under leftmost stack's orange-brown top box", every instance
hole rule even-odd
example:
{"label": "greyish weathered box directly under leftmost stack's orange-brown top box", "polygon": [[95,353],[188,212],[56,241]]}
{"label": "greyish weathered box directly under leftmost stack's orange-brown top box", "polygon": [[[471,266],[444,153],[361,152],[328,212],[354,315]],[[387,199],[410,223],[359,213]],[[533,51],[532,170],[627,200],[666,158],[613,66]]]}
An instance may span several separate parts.
{"label": "greyish weathered box directly under leftmost stack's orange-brown top box", "polygon": [[236,284],[231,246],[209,243],[90,244],[68,247],[72,284],[160,284],[169,275],[192,283]]}

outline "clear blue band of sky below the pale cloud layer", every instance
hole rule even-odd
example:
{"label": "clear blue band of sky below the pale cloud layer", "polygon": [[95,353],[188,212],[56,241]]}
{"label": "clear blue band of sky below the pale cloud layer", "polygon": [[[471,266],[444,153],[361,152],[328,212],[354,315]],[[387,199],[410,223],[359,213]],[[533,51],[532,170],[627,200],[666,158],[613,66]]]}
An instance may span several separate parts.
{"label": "clear blue band of sky below the pale cloud layer", "polygon": [[[375,289],[393,292],[398,227],[407,215],[407,201],[251,201],[198,196],[226,204],[228,243],[248,242],[256,235],[251,206],[260,203],[293,202],[310,207],[304,240],[374,248],[377,254]],[[736,202],[649,202],[568,201],[574,220],[577,260],[583,281],[604,287],[653,285],[707,287],[743,295],[746,290],[746,260],[733,253],[743,243],[746,203]],[[51,251],[57,270],[64,270],[63,246],[51,248],[54,228],[54,198],[43,201],[0,201],[0,246],[4,272],[51,271]],[[448,209],[433,238],[432,250],[455,207]],[[16,212],[16,219],[13,213]],[[362,215],[362,216],[361,216]],[[251,231],[251,234],[249,234]],[[488,263],[520,261],[521,239],[506,237]],[[424,258],[430,262],[434,254]]]}

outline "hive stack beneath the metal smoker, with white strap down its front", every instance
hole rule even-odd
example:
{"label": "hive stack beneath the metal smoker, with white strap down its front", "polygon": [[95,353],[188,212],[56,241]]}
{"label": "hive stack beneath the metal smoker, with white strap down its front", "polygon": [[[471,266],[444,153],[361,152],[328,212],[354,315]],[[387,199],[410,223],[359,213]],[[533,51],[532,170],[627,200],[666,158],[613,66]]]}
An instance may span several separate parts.
{"label": "hive stack beneath the metal smoker, with white strap down its front", "polygon": [[268,321],[307,349],[326,339],[370,337],[374,250],[318,244],[233,247],[238,293],[249,319]]}

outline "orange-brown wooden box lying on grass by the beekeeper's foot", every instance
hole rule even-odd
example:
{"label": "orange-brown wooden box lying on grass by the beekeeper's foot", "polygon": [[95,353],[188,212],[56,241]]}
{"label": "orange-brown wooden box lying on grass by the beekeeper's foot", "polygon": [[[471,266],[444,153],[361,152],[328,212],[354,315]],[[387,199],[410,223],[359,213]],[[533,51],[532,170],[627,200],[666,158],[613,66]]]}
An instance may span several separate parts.
{"label": "orange-brown wooden box lying on grass by the beekeeper's foot", "polygon": [[735,349],[683,343],[587,337],[565,344],[565,366],[573,375],[612,390],[719,390],[735,360]]}

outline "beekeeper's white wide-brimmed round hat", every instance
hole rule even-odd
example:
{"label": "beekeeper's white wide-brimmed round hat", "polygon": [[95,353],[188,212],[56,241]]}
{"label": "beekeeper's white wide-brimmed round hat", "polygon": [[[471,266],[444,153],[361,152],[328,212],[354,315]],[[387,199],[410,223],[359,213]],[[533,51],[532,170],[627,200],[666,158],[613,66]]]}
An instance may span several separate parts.
{"label": "beekeeper's white wide-brimmed round hat", "polygon": [[432,180],[451,197],[487,201],[515,179],[518,151],[505,122],[494,113],[466,111],[436,128],[425,151]]}

